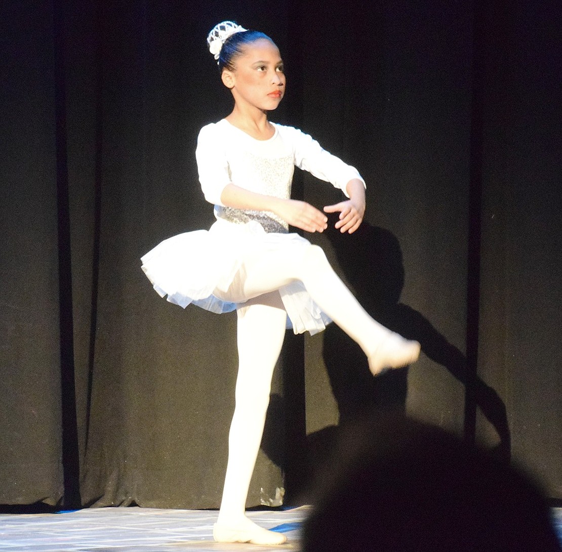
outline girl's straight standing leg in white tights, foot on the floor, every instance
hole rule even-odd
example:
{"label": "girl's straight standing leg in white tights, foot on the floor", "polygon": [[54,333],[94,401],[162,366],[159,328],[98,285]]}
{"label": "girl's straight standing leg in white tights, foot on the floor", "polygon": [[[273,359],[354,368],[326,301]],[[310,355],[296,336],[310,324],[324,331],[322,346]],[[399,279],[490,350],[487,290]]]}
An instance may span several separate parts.
{"label": "girl's straight standing leg in white tights, foot on the floor", "polygon": [[271,376],[285,336],[287,313],[277,291],[249,301],[237,313],[236,404],[228,438],[223,499],[213,536],[219,542],[282,544],[286,540],[284,535],[257,526],[244,510],[264,431]]}

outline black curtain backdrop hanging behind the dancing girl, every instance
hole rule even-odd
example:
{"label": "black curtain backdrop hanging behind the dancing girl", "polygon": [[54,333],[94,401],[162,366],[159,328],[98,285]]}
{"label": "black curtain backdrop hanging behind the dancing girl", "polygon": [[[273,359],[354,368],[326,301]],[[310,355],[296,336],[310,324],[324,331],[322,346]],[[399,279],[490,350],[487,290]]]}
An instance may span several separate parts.
{"label": "black curtain backdrop hanging behind the dancing girl", "polygon": [[[219,505],[235,315],[166,303],[139,258],[212,223],[194,149],[231,107],[205,44],[223,19],[280,47],[271,119],[365,177],[361,230],[309,237],[424,352],[372,378],[336,326],[288,334],[248,505],[305,500],[337,426],[377,409],[494,448],[562,499],[561,11],[3,2],[0,504]],[[339,200],[300,173],[294,193]]]}

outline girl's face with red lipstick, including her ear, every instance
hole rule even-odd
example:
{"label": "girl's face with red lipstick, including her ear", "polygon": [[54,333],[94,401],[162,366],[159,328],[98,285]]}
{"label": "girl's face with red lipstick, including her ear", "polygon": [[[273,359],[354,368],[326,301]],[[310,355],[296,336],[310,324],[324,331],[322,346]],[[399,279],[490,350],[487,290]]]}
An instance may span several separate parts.
{"label": "girl's face with red lipstick, including her ear", "polygon": [[234,65],[234,71],[223,71],[222,79],[237,106],[276,109],[285,93],[283,61],[277,46],[265,38],[255,40],[244,46]]}

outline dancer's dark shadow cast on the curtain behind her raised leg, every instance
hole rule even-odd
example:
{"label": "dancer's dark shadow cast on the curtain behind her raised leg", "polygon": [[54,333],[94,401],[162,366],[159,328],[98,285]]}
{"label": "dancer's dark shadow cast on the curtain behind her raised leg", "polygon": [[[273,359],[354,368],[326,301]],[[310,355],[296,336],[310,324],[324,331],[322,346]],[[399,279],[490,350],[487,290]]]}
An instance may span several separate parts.
{"label": "dancer's dark shadow cast on the curtain behind her raised leg", "polygon": [[[354,234],[342,235],[333,230],[334,221],[330,222],[331,230],[325,233],[339,266],[366,311],[389,329],[419,341],[427,357],[465,384],[465,356],[421,313],[400,303],[404,265],[396,236],[367,222]],[[371,376],[359,346],[335,324],[325,330],[323,357],[338,406],[340,426],[377,410],[404,412],[407,368]],[[474,382],[474,400],[500,438],[496,453],[509,460],[511,443],[505,404],[496,391],[478,377]],[[308,436],[309,466],[318,466],[326,458],[336,432],[336,427],[329,426]]]}

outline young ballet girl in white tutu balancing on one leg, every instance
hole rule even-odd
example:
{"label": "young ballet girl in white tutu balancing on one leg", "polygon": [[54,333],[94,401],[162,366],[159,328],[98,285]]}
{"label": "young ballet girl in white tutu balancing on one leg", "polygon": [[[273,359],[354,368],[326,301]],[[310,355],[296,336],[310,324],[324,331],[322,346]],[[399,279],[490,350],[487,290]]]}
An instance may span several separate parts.
{"label": "young ballet girl in white tutu balancing on one leg", "polygon": [[[339,213],[336,228],[351,234],[365,211],[365,184],[355,168],[309,135],[268,120],[285,93],[273,40],[223,21],[207,43],[234,98],[232,113],[203,127],[197,143],[201,187],[215,206],[216,222],[209,231],[163,241],[142,258],[143,270],[172,303],[237,312],[235,409],[213,536],[219,542],[282,544],[284,535],[257,526],[244,510],[285,327],[314,334],[333,320],[361,346],[373,375],[414,362],[420,345],[373,320],[323,250],[288,233],[289,225],[321,232],[327,228],[324,213]],[[290,199],[295,165],[341,189],[346,199],[324,212]]]}

